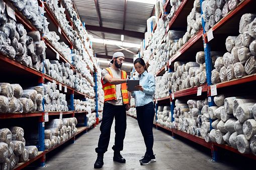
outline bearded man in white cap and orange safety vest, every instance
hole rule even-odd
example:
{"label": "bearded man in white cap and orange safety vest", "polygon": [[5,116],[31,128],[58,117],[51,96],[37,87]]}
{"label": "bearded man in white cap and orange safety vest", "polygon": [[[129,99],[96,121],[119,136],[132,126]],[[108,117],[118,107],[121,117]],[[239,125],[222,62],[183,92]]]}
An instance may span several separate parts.
{"label": "bearded man in white cap and orange safety vest", "polygon": [[127,73],[120,70],[124,62],[124,54],[116,52],[110,61],[113,65],[102,71],[102,86],[104,89],[104,108],[101,123],[101,135],[98,147],[95,151],[98,153],[95,168],[101,168],[104,164],[103,156],[108,149],[110,140],[111,126],[115,117],[115,145],[113,160],[125,163],[125,159],[120,154],[123,150],[123,143],[126,131],[126,110],[130,109],[130,92],[127,91]]}

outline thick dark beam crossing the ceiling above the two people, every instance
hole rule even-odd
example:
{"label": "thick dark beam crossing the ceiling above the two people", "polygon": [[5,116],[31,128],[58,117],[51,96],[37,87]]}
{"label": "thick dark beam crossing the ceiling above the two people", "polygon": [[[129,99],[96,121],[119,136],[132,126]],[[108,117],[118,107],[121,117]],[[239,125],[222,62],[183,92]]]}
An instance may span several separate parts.
{"label": "thick dark beam crossing the ceiling above the two people", "polygon": [[86,30],[91,31],[99,31],[99,32],[105,32],[105,33],[111,33],[111,34],[117,34],[117,35],[124,35],[128,37],[135,37],[144,39],[144,33],[135,32],[135,31],[127,31],[127,30],[120,30],[120,29],[112,29],[112,28],[106,28],[106,27],[98,27],[98,26],[89,26],[86,25]]}

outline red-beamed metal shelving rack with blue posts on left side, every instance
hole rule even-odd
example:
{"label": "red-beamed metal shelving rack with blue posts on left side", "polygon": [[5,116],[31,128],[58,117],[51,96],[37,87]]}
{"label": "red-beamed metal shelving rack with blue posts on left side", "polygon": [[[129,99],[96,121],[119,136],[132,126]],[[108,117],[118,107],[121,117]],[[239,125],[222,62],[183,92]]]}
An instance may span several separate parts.
{"label": "red-beamed metal shelving rack with blue posts on left side", "polygon": [[[15,16],[16,16],[16,19],[17,19],[18,23],[22,24],[25,27],[26,30],[37,31],[35,26],[33,26],[31,24],[31,22],[28,21],[22,15],[22,13],[20,13],[10,2],[8,2],[7,0],[4,0],[4,2],[6,4],[8,4],[15,11]],[[53,25],[55,27],[57,27],[57,28],[60,27],[60,25],[57,22],[57,20],[54,17],[54,15],[47,8],[47,5],[45,4],[45,2],[38,0],[38,3],[39,3],[39,5],[41,7],[43,7],[46,10],[46,14],[51,19],[51,22],[53,22]],[[61,36],[62,36],[62,39],[64,39],[64,42],[67,42],[69,44],[69,47],[72,50],[72,47],[73,47],[72,43],[68,39],[68,37],[66,36],[66,33],[62,30],[62,28],[61,28]],[[42,37],[42,35],[41,35],[41,39],[45,42],[45,44],[48,47],[48,49],[50,49],[48,52],[54,53],[55,56],[58,53],[59,57],[60,57],[60,61],[69,63],[65,59],[65,57],[60,52],[58,52],[54,48],[54,46],[47,39],[44,39]],[[56,59],[56,58],[54,58],[54,59]],[[92,61],[92,58],[91,58],[91,61]],[[69,63],[69,64],[71,66],[71,69],[74,69],[72,64],[71,63]],[[51,81],[51,82],[56,82],[56,84],[61,84],[62,92],[65,93],[65,94],[70,95],[70,108],[69,108],[69,111],[67,111],[67,112],[47,112],[48,116],[58,116],[58,115],[61,114],[61,115],[68,115],[68,117],[74,117],[75,114],[79,114],[79,113],[84,113],[85,115],[87,114],[86,111],[80,111],[80,112],[74,111],[74,103],[73,103],[73,100],[74,100],[75,97],[78,97],[78,98],[81,98],[81,99],[84,99],[84,98],[88,97],[88,98],[92,99],[92,97],[88,96],[87,94],[83,94],[83,93],[81,93],[79,91],[76,91],[74,88],[71,88],[71,87],[69,87],[69,86],[67,86],[67,85],[65,85],[65,84],[63,84],[63,83],[53,79],[49,75],[46,75],[46,74],[44,74],[42,72],[39,72],[39,71],[37,71],[34,68],[27,67],[27,66],[25,66],[25,65],[15,61],[15,60],[9,58],[8,56],[5,56],[3,54],[0,54],[0,67],[6,73],[17,74],[17,75],[19,75],[21,77],[29,77],[31,79],[31,81],[37,81],[38,85],[41,85],[41,86],[45,83],[45,81]],[[91,70],[91,74],[92,73],[93,73],[93,71]],[[96,75],[97,75],[97,73],[96,73]],[[64,88],[66,88],[66,92],[64,92]],[[43,110],[44,110],[44,102],[43,102]],[[38,119],[37,126],[38,126],[39,142],[38,142],[37,147],[38,147],[38,151],[39,152],[38,152],[38,155],[35,158],[29,159],[28,161],[26,161],[24,163],[18,163],[14,169],[22,169],[22,168],[28,166],[29,164],[31,164],[32,162],[34,162],[36,160],[40,160],[40,166],[44,166],[45,165],[45,160],[46,160],[46,153],[50,152],[51,150],[57,148],[58,146],[64,144],[67,141],[74,142],[75,136],[77,136],[78,134],[81,134],[83,132],[87,132],[88,129],[91,128],[91,127],[87,127],[87,122],[85,122],[84,123],[85,126],[77,127],[78,132],[76,134],[73,134],[68,140],[66,140],[65,142],[60,143],[59,145],[56,145],[55,147],[53,147],[53,148],[51,148],[49,150],[45,150],[45,148],[44,148],[45,111],[43,111],[43,112],[31,112],[31,113],[0,113],[0,120],[10,121],[10,120],[19,119],[19,118],[25,118],[25,119],[26,118],[37,118]],[[94,126],[95,125],[93,125],[92,127],[94,127]]]}

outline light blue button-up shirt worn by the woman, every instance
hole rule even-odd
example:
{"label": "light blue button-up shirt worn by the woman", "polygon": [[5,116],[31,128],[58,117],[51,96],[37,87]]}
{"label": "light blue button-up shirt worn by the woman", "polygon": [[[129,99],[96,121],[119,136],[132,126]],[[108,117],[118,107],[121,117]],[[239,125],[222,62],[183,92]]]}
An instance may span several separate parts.
{"label": "light blue button-up shirt worn by the woman", "polygon": [[144,106],[153,101],[155,93],[155,78],[147,71],[140,75],[139,84],[143,87],[143,91],[133,91],[132,97],[135,97],[135,105]]}

